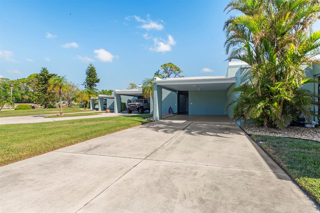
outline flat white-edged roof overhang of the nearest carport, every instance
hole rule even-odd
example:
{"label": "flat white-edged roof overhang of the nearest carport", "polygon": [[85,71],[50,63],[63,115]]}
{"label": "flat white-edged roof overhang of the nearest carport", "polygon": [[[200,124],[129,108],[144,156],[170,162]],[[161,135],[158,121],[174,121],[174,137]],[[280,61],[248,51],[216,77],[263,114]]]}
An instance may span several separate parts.
{"label": "flat white-edged roof overhang of the nearest carport", "polygon": [[224,76],[206,76],[206,77],[182,77],[160,79],[154,78],[153,83],[163,86],[174,91],[191,91],[191,90],[226,90],[236,78],[226,78]]}

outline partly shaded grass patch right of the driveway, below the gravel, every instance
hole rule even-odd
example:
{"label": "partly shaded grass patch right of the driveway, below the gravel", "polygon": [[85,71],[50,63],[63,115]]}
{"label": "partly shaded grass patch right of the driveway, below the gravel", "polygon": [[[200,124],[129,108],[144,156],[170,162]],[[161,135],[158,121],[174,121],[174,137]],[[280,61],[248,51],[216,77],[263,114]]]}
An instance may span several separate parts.
{"label": "partly shaded grass patch right of the driveway, below the gravel", "polygon": [[320,204],[320,143],[301,139],[252,135],[300,187]]}

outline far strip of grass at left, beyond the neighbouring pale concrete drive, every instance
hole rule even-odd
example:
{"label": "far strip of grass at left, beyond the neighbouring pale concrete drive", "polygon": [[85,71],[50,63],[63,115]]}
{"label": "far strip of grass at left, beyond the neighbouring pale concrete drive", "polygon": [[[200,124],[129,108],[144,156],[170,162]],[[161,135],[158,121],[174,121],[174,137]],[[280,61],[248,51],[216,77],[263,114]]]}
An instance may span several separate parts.
{"label": "far strip of grass at left, beyond the neighbouring pale concrete drive", "polygon": [[[83,112],[83,111],[84,111],[84,108],[79,108],[79,107],[62,108],[63,113]],[[57,114],[57,113],[60,113],[59,108],[33,109],[33,110],[6,110],[6,111],[0,111],[0,118],[11,117],[11,116],[45,115],[45,114]]]}

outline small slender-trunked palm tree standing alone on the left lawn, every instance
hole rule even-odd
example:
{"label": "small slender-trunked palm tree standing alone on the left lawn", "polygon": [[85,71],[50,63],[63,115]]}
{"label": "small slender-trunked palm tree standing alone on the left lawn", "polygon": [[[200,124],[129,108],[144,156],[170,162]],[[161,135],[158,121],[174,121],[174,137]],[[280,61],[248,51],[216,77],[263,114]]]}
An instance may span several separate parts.
{"label": "small slender-trunked palm tree standing alone on the left lawn", "polygon": [[48,81],[48,91],[53,91],[59,95],[60,98],[60,116],[62,116],[62,95],[63,93],[70,91],[70,84],[68,83],[66,76],[55,76]]}

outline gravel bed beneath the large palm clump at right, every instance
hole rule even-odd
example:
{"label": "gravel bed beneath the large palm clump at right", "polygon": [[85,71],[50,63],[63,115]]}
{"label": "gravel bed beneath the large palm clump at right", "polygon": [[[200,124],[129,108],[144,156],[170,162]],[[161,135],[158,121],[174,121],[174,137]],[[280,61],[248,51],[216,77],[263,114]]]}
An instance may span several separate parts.
{"label": "gravel bed beneath the large palm clump at right", "polygon": [[247,134],[269,135],[276,137],[289,137],[307,139],[320,142],[320,127],[306,128],[289,126],[285,130],[276,128],[261,127],[254,124],[240,126]]}

